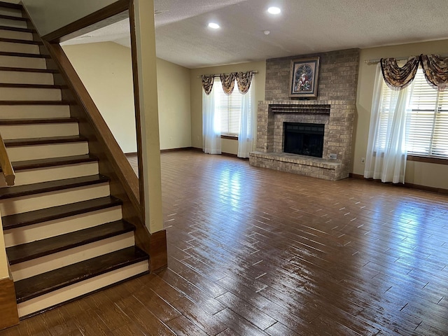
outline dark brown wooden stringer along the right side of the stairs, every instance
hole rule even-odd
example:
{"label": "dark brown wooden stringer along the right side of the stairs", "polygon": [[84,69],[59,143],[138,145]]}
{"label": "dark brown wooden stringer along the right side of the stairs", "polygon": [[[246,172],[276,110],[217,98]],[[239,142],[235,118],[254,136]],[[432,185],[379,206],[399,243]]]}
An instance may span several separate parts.
{"label": "dark brown wooden stringer along the right side of the stairs", "polygon": [[99,158],[100,174],[111,179],[111,195],[123,200],[123,219],[135,225],[135,243],[148,253],[150,272],[167,267],[166,232],[160,230],[151,234],[148,231],[139,200],[139,179],[92,97],[58,43],[43,41],[40,48],[41,54],[50,56],[47,68],[58,71],[53,74],[55,85],[63,85],[62,99],[70,102],[71,117],[79,120],[80,134],[88,139],[90,153]]}

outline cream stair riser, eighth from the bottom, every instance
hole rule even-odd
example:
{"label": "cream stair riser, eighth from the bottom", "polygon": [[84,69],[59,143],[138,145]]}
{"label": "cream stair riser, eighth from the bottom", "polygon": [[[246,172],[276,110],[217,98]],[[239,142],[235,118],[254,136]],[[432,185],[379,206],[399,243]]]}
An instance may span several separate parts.
{"label": "cream stair riser, eighth from the bottom", "polygon": [[68,105],[3,105],[1,119],[68,118]]}

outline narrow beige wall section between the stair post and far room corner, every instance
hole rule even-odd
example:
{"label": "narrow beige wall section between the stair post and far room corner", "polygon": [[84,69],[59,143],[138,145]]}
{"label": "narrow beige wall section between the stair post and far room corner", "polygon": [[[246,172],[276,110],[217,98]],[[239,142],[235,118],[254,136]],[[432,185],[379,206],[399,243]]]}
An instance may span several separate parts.
{"label": "narrow beige wall section between the stair post and far room corner", "polygon": [[160,149],[191,146],[190,69],[157,59]]}

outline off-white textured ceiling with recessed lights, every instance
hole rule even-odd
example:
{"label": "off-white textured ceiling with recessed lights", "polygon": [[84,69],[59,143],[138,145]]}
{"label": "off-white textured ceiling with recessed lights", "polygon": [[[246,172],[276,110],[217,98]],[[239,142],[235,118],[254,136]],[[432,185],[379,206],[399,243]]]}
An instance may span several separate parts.
{"label": "off-white textured ceiling with recessed lights", "polygon": [[[282,13],[267,14],[272,5]],[[190,69],[448,38],[447,0],[155,0],[154,6],[158,57]],[[211,20],[221,29],[209,29]],[[129,46],[128,21],[67,44],[97,41]]]}

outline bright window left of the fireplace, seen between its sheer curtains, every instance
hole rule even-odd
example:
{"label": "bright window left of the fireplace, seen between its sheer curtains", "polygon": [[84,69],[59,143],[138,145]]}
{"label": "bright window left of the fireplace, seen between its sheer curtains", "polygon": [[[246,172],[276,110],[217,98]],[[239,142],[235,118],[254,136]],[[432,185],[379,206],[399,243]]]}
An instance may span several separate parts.
{"label": "bright window left of the fireplace, seen between its sheer curtains", "polygon": [[[230,137],[238,137],[239,125],[241,117],[241,100],[243,95],[239,93],[238,87],[233,90],[232,94],[225,94],[219,78],[215,79],[216,90],[215,95],[215,111],[221,116],[221,134]],[[248,101],[249,111],[252,111],[252,86],[249,88]],[[252,113],[249,113],[248,125],[252,125]]]}

